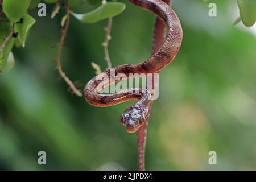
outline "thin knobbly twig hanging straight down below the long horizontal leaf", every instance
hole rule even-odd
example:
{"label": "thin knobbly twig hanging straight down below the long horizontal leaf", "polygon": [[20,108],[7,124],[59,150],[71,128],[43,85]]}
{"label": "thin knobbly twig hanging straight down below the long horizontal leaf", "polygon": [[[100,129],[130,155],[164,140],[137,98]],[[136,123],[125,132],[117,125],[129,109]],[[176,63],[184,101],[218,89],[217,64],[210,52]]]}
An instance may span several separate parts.
{"label": "thin knobbly twig hanging straight down below the long horizontal leaf", "polygon": [[108,69],[112,68],[112,63],[109,57],[109,40],[111,39],[110,32],[112,28],[112,18],[109,18],[108,27],[105,28],[106,36],[105,36],[105,42],[102,43],[102,46],[104,47],[105,52],[105,61],[108,64]]}

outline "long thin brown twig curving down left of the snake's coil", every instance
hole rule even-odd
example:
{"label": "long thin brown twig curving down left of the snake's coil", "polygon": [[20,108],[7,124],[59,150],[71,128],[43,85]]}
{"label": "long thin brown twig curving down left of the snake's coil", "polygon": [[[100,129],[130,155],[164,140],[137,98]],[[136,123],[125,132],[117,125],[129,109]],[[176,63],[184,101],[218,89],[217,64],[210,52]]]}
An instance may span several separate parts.
{"label": "long thin brown twig curving down left of the snake's coil", "polygon": [[82,93],[76,88],[75,84],[73,84],[73,82],[66,76],[66,74],[63,72],[62,65],[61,65],[61,52],[63,49],[64,40],[65,40],[65,37],[67,36],[67,31],[68,31],[68,27],[69,27],[69,6],[68,6],[68,4],[65,5],[65,10],[66,10],[65,16],[67,16],[67,18],[65,20],[64,27],[61,30],[60,42],[57,44],[57,46],[58,46],[57,57],[56,57],[57,69],[60,73],[60,76],[70,86],[72,92],[75,93],[77,96],[82,97]]}

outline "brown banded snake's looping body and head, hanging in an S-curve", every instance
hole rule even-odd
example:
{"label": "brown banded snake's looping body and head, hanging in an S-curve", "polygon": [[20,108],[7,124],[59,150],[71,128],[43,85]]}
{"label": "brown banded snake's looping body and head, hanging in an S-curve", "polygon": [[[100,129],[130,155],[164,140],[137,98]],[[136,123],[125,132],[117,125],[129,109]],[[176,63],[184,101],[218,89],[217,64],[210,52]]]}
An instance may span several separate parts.
{"label": "brown banded snake's looping body and head, hanging in an S-curve", "polygon": [[[129,78],[129,73],[158,73],[174,60],[177,52],[179,52],[183,33],[179,18],[171,7],[162,0],[129,1],[151,11],[163,20],[168,29],[163,46],[157,52],[154,51],[154,55],[142,63],[119,65],[95,76],[85,85],[84,95],[85,100],[90,105],[98,107],[108,107],[129,100],[138,100],[134,105],[127,107],[120,118],[127,132],[134,133],[139,127],[143,126],[148,117],[149,107],[152,104],[151,93],[147,89],[141,88],[127,89],[113,94],[100,94],[98,92],[106,86],[120,81],[115,77],[119,73],[125,74]],[[156,47],[159,46],[156,45]],[[114,73],[114,78],[111,73]],[[107,81],[103,80],[105,76],[108,77]]]}

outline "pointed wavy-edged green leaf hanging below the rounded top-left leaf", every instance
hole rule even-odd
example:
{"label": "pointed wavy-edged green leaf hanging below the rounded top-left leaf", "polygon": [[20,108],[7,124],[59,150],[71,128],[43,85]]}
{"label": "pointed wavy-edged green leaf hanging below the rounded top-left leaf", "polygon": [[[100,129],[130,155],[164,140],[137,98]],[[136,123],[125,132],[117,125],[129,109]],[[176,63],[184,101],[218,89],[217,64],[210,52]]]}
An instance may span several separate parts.
{"label": "pointed wavy-edged green leaf hanging below the rounded top-left leaf", "polygon": [[35,24],[35,19],[28,14],[25,14],[23,16],[23,23],[15,24],[15,30],[16,32],[18,32],[18,39],[19,39],[19,42],[22,44],[22,47],[25,47],[27,33],[34,24]]}

